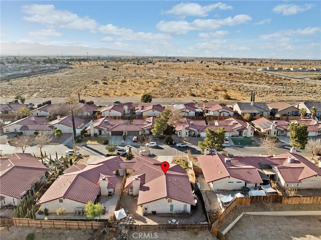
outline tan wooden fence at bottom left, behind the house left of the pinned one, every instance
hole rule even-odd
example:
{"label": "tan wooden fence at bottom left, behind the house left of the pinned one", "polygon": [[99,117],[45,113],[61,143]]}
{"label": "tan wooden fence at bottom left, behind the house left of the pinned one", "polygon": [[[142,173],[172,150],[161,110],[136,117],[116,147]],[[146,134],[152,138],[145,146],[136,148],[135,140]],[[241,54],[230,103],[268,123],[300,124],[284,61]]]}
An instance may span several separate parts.
{"label": "tan wooden fence at bottom left, behind the house left of the pinned one", "polygon": [[15,226],[29,226],[42,228],[66,228],[66,229],[99,229],[104,222],[97,221],[64,221],[64,220],[43,220],[29,218],[13,218]]}

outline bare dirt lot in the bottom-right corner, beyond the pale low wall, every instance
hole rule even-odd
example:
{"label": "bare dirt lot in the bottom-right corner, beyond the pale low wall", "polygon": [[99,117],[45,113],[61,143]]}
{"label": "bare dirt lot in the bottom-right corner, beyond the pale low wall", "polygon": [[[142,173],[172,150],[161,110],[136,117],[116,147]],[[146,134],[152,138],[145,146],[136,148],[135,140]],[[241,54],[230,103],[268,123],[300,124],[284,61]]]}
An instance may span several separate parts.
{"label": "bare dirt lot in the bottom-right corner, beyond the pale low wall", "polygon": [[321,216],[243,215],[226,233],[229,240],[321,239]]}

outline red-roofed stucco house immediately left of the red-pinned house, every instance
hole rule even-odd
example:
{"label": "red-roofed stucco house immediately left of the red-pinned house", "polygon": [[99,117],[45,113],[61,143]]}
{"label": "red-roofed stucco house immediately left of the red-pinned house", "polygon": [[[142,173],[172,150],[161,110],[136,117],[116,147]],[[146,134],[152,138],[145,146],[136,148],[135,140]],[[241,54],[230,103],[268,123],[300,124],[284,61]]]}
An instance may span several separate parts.
{"label": "red-roofed stucco house immediately left of the red-pinned house", "polygon": [[75,209],[85,209],[87,202],[95,202],[99,196],[112,195],[118,181],[114,173],[120,168],[118,162],[123,160],[112,156],[88,166],[72,165],[53,182],[38,204],[49,213],[56,213],[60,207],[64,207],[66,213],[74,213]]}

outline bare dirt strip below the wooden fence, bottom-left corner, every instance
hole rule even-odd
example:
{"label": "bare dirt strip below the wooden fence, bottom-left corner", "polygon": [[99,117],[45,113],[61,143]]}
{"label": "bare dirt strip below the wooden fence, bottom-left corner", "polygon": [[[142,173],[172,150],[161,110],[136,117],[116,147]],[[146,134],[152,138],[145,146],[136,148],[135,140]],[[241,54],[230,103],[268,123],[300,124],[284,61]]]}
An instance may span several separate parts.
{"label": "bare dirt strip below the wooden fence, bottom-left corner", "polygon": [[35,233],[35,240],[88,240],[93,230],[70,230],[70,229],[46,229],[34,227],[18,227],[11,226],[10,228],[0,231],[1,239],[8,240],[24,240],[29,233]]}

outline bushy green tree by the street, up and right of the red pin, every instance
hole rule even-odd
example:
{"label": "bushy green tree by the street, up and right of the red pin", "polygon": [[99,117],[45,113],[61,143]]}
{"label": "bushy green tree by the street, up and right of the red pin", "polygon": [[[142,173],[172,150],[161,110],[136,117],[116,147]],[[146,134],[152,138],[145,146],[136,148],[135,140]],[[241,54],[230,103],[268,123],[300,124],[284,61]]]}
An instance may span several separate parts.
{"label": "bushy green tree by the street, up and right of the red pin", "polygon": [[218,130],[212,130],[211,128],[205,129],[205,138],[204,141],[198,142],[199,147],[202,151],[209,148],[211,149],[211,153],[212,148],[215,148],[216,151],[222,151],[224,148],[225,132],[224,127],[220,127]]}

